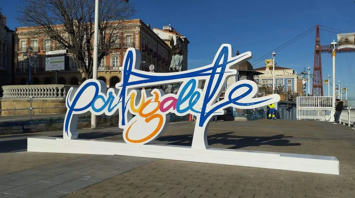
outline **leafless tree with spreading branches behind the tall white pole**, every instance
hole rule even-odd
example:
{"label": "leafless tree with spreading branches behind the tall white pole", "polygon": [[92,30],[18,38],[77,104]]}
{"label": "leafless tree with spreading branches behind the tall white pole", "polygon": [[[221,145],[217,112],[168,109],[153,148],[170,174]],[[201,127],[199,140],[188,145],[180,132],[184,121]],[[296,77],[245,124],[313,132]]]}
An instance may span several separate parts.
{"label": "leafless tree with spreading branches behind the tall white pole", "polygon": [[[55,41],[78,61],[86,79],[93,76],[94,0],[21,0],[18,20],[34,27],[32,37]],[[98,64],[118,48],[125,20],[135,15],[134,4],[122,0],[99,1]]]}

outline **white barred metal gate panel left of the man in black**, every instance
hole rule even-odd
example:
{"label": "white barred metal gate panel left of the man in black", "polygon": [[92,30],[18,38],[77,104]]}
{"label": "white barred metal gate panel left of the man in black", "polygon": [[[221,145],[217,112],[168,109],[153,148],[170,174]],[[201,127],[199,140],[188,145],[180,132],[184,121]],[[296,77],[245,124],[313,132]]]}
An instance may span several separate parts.
{"label": "white barred metal gate panel left of the man in black", "polygon": [[297,120],[330,120],[332,97],[297,97]]}

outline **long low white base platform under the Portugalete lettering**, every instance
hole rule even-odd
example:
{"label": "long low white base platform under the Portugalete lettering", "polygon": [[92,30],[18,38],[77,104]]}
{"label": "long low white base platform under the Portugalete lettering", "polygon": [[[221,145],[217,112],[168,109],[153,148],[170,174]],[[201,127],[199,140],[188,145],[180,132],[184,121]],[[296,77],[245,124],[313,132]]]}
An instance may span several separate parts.
{"label": "long low white base platform under the Portugalete lettering", "polygon": [[178,145],[127,144],[125,142],[63,139],[57,137],[28,138],[27,151],[127,155],[144,158],[194,161],[339,175],[338,159],[331,156],[320,155],[272,153],[220,148],[192,149],[191,147]]}

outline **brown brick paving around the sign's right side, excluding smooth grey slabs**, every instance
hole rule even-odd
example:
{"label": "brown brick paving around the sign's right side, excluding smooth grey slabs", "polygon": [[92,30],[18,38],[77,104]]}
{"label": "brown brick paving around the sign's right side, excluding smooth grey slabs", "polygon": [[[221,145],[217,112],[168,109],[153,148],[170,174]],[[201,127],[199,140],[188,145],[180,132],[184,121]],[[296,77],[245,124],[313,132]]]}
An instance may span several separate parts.
{"label": "brown brick paving around the sign's right side, excluding smooth grey slabs", "polygon": [[[170,125],[154,143],[191,145],[194,122]],[[355,131],[329,122],[211,123],[216,148],[336,156],[340,175],[159,159],[65,197],[355,197]],[[122,135],[105,137],[122,140]]]}

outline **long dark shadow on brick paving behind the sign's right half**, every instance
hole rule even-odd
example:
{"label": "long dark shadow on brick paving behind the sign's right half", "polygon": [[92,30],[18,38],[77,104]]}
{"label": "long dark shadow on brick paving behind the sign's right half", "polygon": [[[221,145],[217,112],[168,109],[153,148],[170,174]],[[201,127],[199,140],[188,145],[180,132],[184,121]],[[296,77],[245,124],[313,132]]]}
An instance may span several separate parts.
{"label": "long dark shadow on brick paving behind the sign's right half", "polygon": [[[279,134],[275,136],[234,136],[233,132],[218,133],[207,136],[208,145],[223,144],[231,145],[229,149],[239,149],[243,147],[258,147],[260,145],[271,146],[299,146],[300,143],[290,143],[289,140],[283,138],[292,138],[293,136],[285,136]],[[170,142],[171,145],[191,146],[192,134],[178,135],[178,136],[163,136],[159,137],[157,141]]]}

